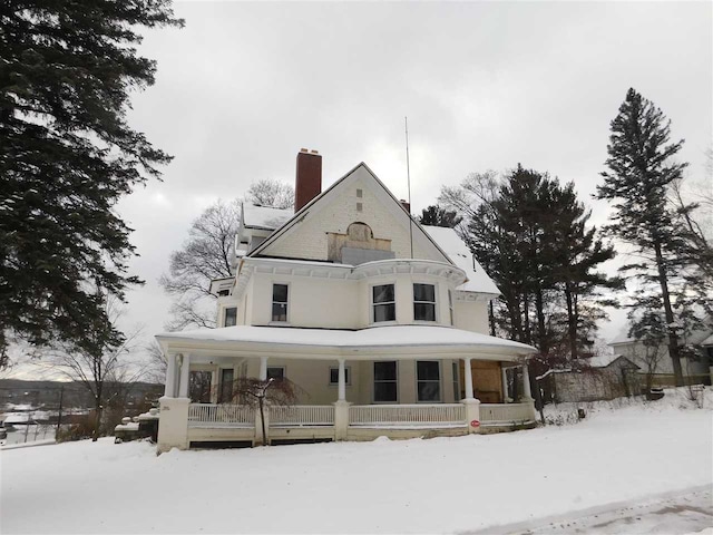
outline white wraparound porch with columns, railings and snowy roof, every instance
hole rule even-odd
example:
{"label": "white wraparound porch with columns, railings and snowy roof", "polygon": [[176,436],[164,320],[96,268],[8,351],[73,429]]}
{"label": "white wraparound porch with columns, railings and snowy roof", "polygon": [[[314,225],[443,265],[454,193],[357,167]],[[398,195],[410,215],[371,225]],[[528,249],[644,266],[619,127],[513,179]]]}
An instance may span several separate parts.
{"label": "white wraparound porch with columns, railings and snowy roof", "polygon": [[[267,441],[279,444],[457,436],[535,424],[524,361],[533,349],[517,342],[421,325],[336,332],[244,327],[229,329],[237,332],[199,331],[214,338],[168,341],[157,337],[168,358],[160,450],[205,442],[262,444],[263,425]],[[216,334],[228,339],[215,340]],[[359,340],[349,340],[354,334]],[[280,343],[280,337],[287,335],[292,343]],[[256,340],[260,337],[272,340]],[[310,338],[310,343],[294,343],[296,337]],[[511,367],[519,367],[524,379],[519,402],[508,402],[506,369]],[[490,376],[497,370],[500,402],[478,399],[481,368],[490,368]],[[192,391],[196,373],[209,377],[211,388],[201,396]],[[281,374],[307,395],[299,405],[265,407],[264,421],[258,410],[235,405],[226,395],[234,377],[267,380]],[[492,400],[491,382],[492,377],[484,391]]]}

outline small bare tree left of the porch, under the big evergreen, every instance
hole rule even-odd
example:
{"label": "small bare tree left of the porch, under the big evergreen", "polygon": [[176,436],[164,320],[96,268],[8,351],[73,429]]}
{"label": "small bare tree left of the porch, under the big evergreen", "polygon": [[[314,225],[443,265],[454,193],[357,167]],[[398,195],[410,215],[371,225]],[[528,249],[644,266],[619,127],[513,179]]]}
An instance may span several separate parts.
{"label": "small bare tree left of the porch, under the big evergreen", "polygon": [[[111,296],[105,298],[105,307],[106,317],[116,325],[121,317],[117,301]],[[113,393],[108,391],[110,385],[135,383],[144,373],[144,368],[128,358],[139,334],[140,329],[129,332],[118,346],[100,341],[97,346],[101,349],[98,351],[58,342],[49,352],[48,360],[55,369],[68,379],[78,381],[91,395],[96,411],[92,441],[100,436],[102,411]]]}

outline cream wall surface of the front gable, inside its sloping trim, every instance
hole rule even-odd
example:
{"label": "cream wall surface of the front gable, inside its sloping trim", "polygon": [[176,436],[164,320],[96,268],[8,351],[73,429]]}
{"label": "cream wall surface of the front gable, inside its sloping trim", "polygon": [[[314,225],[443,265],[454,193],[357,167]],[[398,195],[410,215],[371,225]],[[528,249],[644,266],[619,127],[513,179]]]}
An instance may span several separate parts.
{"label": "cream wall surface of the front gable, inside its sloping trim", "polygon": [[[296,223],[287,231],[283,239],[267,246],[261,254],[286,259],[326,260],[328,232],[346,234],[346,228],[354,222],[368,224],[374,239],[391,240],[391,251],[397,259],[411,257],[411,246],[408,226],[397,221],[392,207],[387,206],[372,192],[374,184],[369,173],[356,169],[364,178],[352,182],[340,195],[336,195],[328,206],[311,214],[303,223]],[[356,189],[362,191],[362,197],[356,197]],[[391,201],[391,200],[389,200]],[[392,202],[392,201],[391,201]],[[356,211],[356,203],[361,203],[362,211]],[[414,227],[414,232],[419,232]],[[287,239],[284,239],[287,237]],[[438,251],[424,251],[414,241],[413,255],[422,260],[443,261]]]}

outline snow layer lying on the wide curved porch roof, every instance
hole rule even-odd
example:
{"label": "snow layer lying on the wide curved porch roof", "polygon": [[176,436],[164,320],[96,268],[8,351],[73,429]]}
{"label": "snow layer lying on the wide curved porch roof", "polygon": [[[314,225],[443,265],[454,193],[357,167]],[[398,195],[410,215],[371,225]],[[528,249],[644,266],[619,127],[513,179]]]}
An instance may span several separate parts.
{"label": "snow layer lying on the wide curved porch roof", "polygon": [[514,354],[529,354],[535,348],[524,343],[489,337],[478,332],[437,325],[389,325],[356,331],[343,329],[301,329],[286,327],[235,325],[219,329],[165,332],[156,335],[164,341],[192,340],[216,342],[311,346],[343,350],[398,347],[463,347]]}

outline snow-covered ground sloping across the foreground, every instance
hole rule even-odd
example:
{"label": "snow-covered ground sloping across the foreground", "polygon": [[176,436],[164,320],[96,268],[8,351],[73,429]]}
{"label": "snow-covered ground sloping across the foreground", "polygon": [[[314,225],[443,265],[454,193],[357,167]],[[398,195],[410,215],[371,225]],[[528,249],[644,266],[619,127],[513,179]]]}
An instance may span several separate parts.
{"label": "snow-covered ground sloping across the foreground", "polygon": [[[656,514],[662,500],[695,495],[702,521],[664,504],[664,533],[702,532],[713,525],[713,399],[705,403],[670,392],[645,406],[588,406],[578,424],[430,440],[158,457],[147,442],[111,439],[4,450],[0,531],[632,533],[624,518],[636,507]],[[621,531],[583,519],[607,508],[622,509]],[[635,533],[655,533],[648,525]]]}

